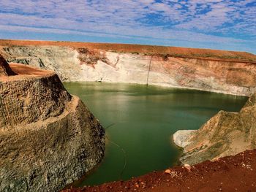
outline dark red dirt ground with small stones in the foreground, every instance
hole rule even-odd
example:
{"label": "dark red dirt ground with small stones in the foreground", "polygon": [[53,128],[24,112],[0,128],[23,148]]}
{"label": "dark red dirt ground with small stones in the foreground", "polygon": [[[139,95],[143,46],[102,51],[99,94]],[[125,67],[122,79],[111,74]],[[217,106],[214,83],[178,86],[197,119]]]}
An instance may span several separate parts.
{"label": "dark red dirt ground with small stones in the foreground", "polygon": [[256,150],[205,161],[191,167],[177,166],[169,172],[151,172],[128,181],[94,187],[70,188],[65,192],[92,191],[256,191]]}

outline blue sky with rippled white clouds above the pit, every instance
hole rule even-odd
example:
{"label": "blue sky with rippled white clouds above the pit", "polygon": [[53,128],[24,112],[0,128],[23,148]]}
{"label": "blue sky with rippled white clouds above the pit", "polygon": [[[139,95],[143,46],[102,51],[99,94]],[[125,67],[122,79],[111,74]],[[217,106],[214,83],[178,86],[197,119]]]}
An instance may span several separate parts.
{"label": "blue sky with rippled white clouds above the pit", "polygon": [[0,0],[0,39],[118,42],[256,54],[256,0]]}

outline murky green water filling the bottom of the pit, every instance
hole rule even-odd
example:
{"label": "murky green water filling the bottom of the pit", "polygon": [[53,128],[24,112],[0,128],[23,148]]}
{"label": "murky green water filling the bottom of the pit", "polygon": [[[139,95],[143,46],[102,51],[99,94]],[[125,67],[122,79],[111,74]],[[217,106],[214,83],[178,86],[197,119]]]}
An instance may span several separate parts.
{"label": "murky green water filling the bottom of the pit", "polygon": [[[96,185],[162,170],[178,162],[181,151],[171,144],[179,129],[197,129],[219,110],[236,112],[246,97],[176,88],[102,82],[66,82],[69,93],[83,100],[107,127],[99,167],[76,185]],[[115,142],[122,147],[113,144]],[[125,159],[127,166],[121,174]],[[120,176],[121,174],[121,176]]]}

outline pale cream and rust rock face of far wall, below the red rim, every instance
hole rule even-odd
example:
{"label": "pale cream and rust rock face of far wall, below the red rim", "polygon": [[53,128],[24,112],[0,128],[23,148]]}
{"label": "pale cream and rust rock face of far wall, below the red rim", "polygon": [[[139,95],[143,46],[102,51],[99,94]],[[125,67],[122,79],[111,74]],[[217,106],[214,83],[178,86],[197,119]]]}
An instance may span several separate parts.
{"label": "pale cream and rust rock face of far wall, below the red rim", "polygon": [[256,64],[211,58],[178,58],[59,46],[9,46],[8,62],[55,71],[63,81],[129,82],[249,96]]}

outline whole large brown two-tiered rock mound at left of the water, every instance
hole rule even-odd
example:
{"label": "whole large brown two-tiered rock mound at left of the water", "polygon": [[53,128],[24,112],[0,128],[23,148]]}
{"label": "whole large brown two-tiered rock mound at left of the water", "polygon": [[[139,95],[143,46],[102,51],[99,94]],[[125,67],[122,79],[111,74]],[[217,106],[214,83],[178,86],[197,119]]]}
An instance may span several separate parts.
{"label": "whole large brown two-tiered rock mound at left of the water", "polygon": [[59,191],[99,164],[104,129],[54,72],[9,69],[17,75],[0,74],[0,191]]}

